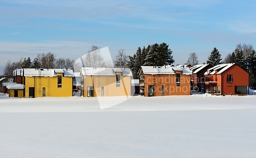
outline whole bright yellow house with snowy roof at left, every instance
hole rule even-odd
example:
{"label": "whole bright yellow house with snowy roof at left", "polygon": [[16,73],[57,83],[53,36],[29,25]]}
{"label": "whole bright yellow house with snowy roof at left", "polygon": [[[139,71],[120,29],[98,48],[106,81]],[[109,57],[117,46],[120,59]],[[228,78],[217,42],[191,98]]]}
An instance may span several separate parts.
{"label": "whole bright yellow house with snowy roof at left", "polygon": [[72,97],[73,70],[22,69],[25,98]]}

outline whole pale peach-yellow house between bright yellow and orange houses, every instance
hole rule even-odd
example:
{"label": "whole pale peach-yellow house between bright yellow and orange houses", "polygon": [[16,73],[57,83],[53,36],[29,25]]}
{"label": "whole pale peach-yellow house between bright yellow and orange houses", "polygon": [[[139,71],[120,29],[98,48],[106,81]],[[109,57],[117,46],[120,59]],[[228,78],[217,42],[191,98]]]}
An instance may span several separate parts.
{"label": "whole pale peach-yellow house between bright yellow and orange houses", "polygon": [[81,96],[131,96],[132,73],[128,68],[82,67]]}

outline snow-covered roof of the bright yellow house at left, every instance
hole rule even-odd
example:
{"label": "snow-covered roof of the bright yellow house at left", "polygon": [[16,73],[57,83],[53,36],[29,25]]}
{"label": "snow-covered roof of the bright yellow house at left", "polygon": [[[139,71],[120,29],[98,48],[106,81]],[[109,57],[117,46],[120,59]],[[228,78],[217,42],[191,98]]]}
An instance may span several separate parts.
{"label": "snow-covered roof of the bright yellow house at left", "polygon": [[[17,69],[18,72],[18,69]],[[43,77],[53,77],[56,73],[63,73],[63,76],[73,77],[73,70],[66,69],[23,69],[21,76],[43,76]]]}

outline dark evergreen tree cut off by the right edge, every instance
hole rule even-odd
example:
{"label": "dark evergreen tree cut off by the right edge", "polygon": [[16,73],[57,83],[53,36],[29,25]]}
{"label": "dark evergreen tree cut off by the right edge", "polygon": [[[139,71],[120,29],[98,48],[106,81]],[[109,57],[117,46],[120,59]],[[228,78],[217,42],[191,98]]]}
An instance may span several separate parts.
{"label": "dark evergreen tree cut off by the right edge", "polygon": [[252,50],[247,57],[248,71],[250,73],[250,86],[256,88],[256,52]]}

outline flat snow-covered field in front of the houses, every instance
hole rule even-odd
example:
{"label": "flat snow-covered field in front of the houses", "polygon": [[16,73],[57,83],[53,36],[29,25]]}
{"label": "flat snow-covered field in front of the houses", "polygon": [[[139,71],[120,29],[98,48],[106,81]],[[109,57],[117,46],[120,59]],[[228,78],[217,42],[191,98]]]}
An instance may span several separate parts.
{"label": "flat snow-covered field in front of the houses", "polygon": [[[118,97],[105,97],[114,102]],[[255,157],[256,96],[0,95],[0,157]]]}

